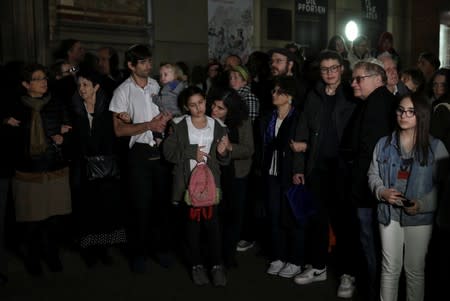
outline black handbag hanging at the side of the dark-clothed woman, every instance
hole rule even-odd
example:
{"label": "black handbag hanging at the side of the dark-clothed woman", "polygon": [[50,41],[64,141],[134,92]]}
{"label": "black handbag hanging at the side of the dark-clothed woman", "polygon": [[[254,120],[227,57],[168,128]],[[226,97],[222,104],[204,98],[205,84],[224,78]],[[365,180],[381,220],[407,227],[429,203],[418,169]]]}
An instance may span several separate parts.
{"label": "black handbag hanging at the side of the dark-clothed woman", "polygon": [[105,178],[120,178],[119,162],[114,155],[90,156],[86,158],[86,176],[89,181]]}

